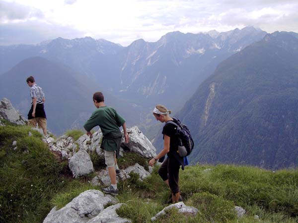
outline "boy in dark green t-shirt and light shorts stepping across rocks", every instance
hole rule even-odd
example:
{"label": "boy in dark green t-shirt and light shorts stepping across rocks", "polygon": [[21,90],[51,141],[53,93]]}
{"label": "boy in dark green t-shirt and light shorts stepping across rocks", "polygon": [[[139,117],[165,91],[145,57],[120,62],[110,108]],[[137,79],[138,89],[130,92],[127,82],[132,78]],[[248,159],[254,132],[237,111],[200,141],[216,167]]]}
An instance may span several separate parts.
{"label": "boy in dark green t-shirt and light shorts stepping across rocks", "polygon": [[111,178],[111,186],[104,188],[103,192],[118,195],[116,170],[117,166],[115,153],[119,153],[122,140],[122,133],[119,127],[122,125],[124,131],[125,142],[128,143],[129,136],[126,130],[126,123],[115,109],[104,104],[104,96],[101,92],[93,94],[94,106],[97,108],[91,117],[84,124],[87,135],[92,137],[91,129],[99,126],[103,135],[100,148],[104,150],[105,163],[108,167],[109,176]]}

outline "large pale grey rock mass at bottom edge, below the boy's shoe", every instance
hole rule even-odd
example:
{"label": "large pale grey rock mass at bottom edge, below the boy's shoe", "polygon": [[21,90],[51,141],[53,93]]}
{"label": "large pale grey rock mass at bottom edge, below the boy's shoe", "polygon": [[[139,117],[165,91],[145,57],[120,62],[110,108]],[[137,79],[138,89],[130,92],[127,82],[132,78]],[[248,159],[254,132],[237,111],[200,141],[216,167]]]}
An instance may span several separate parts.
{"label": "large pale grey rock mass at bottom edge, below the boy's shoe", "polygon": [[57,207],[54,207],[43,223],[129,222],[129,220],[122,219],[116,214],[116,210],[122,204],[104,209],[111,202],[111,198],[105,196],[101,191],[87,190],[75,197],[62,209],[57,210]]}

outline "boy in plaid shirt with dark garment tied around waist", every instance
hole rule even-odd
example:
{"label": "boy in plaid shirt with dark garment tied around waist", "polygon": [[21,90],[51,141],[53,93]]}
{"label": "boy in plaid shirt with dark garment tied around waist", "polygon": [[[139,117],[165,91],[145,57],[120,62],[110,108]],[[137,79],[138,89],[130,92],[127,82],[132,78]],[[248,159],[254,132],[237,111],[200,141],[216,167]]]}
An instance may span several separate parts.
{"label": "boy in plaid shirt with dark garment tied around waist", "polygon": [[30,76],[26,80],[30,87],[30,96],[32,99],[31,109],[28,113],[28,124],[39,128],[42,128],[44,135],[47,135],[47,116],[44,110],[45,95],[41,87],[35,84],[33,76]]}

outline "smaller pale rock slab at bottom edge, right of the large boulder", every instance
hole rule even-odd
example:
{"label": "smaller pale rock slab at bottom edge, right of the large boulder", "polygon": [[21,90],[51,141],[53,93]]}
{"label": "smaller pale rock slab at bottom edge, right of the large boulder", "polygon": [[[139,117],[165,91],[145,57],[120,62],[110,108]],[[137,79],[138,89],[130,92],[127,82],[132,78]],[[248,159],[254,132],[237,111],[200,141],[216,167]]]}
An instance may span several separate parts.
{"label": "smaller pale rock slab at bottom edge, right of the large boulder", "polygon": [[131,223],[128,219],[122,219],[117,215],[116,210],[125,204],[116,204],[104,209],[95,218],[87,223]]}

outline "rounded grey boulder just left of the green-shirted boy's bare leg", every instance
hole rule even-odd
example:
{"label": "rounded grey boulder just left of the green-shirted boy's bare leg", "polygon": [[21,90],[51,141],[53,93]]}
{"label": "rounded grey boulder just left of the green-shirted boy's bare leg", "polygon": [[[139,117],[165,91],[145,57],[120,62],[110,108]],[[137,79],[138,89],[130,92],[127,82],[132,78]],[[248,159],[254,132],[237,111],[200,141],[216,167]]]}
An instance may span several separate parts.
{"label": "rounded grey boulder just left of the green-shirted boy's bare leg", "polygon": [[69,167],[73,172],[73,176],[87,175],[94,171],[89,154],[85,150],[79,150],[71,159]]}

